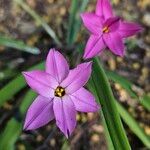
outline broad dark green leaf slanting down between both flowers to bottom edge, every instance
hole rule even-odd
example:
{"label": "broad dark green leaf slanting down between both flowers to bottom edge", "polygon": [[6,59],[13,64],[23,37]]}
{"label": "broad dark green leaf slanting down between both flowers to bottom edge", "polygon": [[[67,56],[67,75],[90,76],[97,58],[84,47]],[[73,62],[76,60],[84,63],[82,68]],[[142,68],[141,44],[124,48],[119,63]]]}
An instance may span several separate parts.
{"label": "broad dark green leaf slanting down between both flowers to bottom edge", "polygon": [[90,82],[94,84],[97,101],[101,104],[114,149],[130,150],[110,84],[98,59],[93,61],[93,73]]}

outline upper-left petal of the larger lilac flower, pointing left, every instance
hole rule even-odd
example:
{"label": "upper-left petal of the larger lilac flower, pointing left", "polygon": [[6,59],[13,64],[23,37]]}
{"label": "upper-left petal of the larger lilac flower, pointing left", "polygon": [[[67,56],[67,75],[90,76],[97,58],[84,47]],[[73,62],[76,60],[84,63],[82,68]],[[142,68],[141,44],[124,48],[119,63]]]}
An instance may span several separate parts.
{"label": "upper-left petal of the larger lilac flower, pointing left", "polygon": [[58,82],[50,74],[44,71],[23,72],[27,84],[38,94],[52,98],[54,97],[54,89],[58,86]]}

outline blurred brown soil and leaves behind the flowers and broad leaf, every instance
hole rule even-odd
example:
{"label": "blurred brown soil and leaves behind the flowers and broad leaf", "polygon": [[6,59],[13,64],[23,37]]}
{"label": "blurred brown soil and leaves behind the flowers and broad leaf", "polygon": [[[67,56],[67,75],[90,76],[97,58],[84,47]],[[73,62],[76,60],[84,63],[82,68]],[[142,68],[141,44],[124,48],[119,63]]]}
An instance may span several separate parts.
{"label": "blurred brown soil and leaves behind the flowers and broad leaf", "polygon": [[[107,50],[100,56],[124,109],[122,120],[131,147],[144,150],[150,142],[150,1],[111,2],[116,15],[144,27],[142,33],[126,40],[125,57]],[[26,86],[21,72],[44,69],[43,61],[52,47],[65,55],[71,68],[79,64],[79,50],[83,51],[89,37],[79,14],[94,11],[95,4],[96,0],[0,0],[1,150],[108,149],[98,113],[78,113],[78,125],[69,140],[55,121],[38,130],[22,131],[26,110],[36,94]]]}

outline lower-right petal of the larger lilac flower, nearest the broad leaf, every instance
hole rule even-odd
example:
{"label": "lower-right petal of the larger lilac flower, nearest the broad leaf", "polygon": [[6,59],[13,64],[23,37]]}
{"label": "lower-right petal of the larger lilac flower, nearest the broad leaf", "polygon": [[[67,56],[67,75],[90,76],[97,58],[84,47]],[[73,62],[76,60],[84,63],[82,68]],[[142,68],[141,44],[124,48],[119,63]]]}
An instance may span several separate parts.
{"label": "lower-right petal of the larger lilac flower, nearest the broad leaf", "polygon": [[100,108],[94,96],[85,88],[80,88],[78,91],[71,94],[70,97],[77,111],[96,112]]}

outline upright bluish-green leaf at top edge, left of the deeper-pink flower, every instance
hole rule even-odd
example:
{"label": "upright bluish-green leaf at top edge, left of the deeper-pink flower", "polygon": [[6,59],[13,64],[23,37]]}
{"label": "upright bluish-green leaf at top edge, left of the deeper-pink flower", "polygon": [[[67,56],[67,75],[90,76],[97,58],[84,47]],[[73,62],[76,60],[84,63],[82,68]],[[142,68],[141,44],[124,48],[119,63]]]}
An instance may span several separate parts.
{"label": "upright bluish-green leaf at top edge, left of the deeper-pink flower", "polygon": [[67,33],[67,44],[72,45],[81,28],[80,13],[83,12],[89,0],[72,0],[69,16],[69,27]]}

